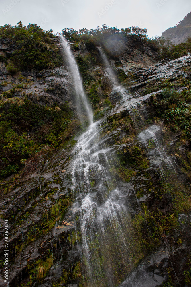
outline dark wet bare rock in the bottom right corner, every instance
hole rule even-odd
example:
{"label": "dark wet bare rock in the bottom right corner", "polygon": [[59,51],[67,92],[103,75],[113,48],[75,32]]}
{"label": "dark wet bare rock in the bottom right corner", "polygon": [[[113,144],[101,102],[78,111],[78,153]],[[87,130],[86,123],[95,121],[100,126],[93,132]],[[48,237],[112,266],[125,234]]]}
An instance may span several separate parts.
{"label": "dark wet bare rock in the bottom right corner", "polygon": [[[179,220],[181,220],[181,217],[185,218],[182,214]],[[186,216],[185,221],[189,224],[190,216]],[[181,226],[182,229],[180,232],[185,234],[185,240],[181,246],[170,247],[167,241],[164,240],[164,247],[153,252],[151,256],[148,256],[146,261],[141,263],[137,269],[128,276],[127,280],[119,286],[163,286],[164,282],[167,282],[169,279],[169,273],[172,274],[171,280],[173,286],[185,286],[183,277],[187,263],[187,251],[189,249],[188,237],[190,236],[190,228],[187,231],[185,229],[187,224],[185,224],[184,227]],[[178,236],[180,236],[180,232],[177,230],[174,234],[174,242],[176,242]]]}

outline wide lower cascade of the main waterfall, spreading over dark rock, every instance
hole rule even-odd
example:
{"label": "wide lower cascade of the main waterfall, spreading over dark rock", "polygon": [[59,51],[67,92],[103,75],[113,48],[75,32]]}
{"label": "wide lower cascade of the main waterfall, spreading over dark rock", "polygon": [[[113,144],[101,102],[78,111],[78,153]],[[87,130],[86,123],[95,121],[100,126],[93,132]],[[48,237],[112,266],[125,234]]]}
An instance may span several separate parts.
{"label": "wide lower cascade of the main waterfall, spreading over dark rock", "polygon": [[[93,281],[98,280],[96,274],[101,276],[103,270],[98,263],[100,258],[96,258],[92,250],[103,248],[101,245],[108,239],[108,228],[112,230],[113,236],[120,234],[123,240],[122,214],[128,217],[123,195],[115,189],[116,180],[112,179],[108,171],[111,168],[108,156],[111,148],[106,142],[101,143],[101,132],[102,127],[97,122],[80,137],[72,171],[73,189],[77,199],[73,209],[77,210],[80,217],[86,272]],[[125,240],[123,245],[125,246]]]}

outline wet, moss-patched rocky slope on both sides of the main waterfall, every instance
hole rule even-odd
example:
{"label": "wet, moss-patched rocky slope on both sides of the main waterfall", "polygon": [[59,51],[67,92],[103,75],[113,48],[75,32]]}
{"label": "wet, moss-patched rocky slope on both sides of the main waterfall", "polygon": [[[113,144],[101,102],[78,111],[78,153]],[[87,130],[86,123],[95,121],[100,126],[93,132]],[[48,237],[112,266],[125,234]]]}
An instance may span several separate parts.
{"label": "wet, moss-patched rocky slope on both sides of the main waterfall", "polygon": [[[58,39],[56,45],[62,51]],[[76,141],[86,129],[78,127],[78,122],[49,157],[39,155],[33,172],[22,174],[21,168],[19,175],[14,172],[2,179],[1,286],[7,286],[3,279],[5,219],[9,220],[9,286],[119,286],[123,281],[120,286],[190,286],[190,130],[186,121],[190,116],[191,55],[157,62],[155,51],[139,49],[132,42],[123,53],[110,57],[115,77],[121,78],[123,88],[130,93],[123,96],[119,90],[112,90],[108,68],[98,49],[91,54],[86,49],[72,49],[80,71],[85,67],[84,87],[100,126],[98,142],[109,148],[106,155],[113,179],[108,191],[118,189],[128,206],[127,217],[124,214],[123,218],[128,222],[128,248],[116,247],[114,255],[115,246],[121,246],[120,238],[113,242],[112,236],[107,237],[108,245],[106,242],[103,249],[109,255],[103,257],[111,264],[103,261],[103,278],[97,275],[97,282],[88,281],[72,193]],[[1,53],[13,50],[11,42],[1,44]],[[88,82],[87,75],[93,80]],[[30,69],[15,75],[9,75],[1,62],[0,80],[7,83],[1,86],[1,94],[23,79],[29,85],[14,90],[13,98],[27,95],[33,104],[49,107],[67,101],[73,112],[71,121],[79,121],[66,62],[53,69]],[[178,107],[177,99],[188,104],[186,111],[182,108],[186,118],[170,121],[170,114],[165,112]],[[147,130],[152,136],[147,137],[150,142],[145,147],[142,132]],[[160,155],[155,157],[159,150]],[[161,155],[163,161],[173,163],[172,169],[168,165],[160,169]],[[91,177],[91,187],[99,197],[98,179],[94,174]],[[126,259],[121,263],[124,254]],[[113,262],[114,257],[121,265]],[[99,255],[95,260],[101,265]]]}

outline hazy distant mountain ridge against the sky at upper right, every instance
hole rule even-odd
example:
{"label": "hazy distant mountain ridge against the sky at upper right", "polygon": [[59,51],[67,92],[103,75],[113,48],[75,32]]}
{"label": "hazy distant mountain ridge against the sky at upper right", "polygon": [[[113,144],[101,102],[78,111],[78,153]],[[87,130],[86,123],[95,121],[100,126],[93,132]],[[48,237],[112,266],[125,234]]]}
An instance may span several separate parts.
{"label": "hazy distant mountain ridge against the sky at upper right", "polygon": [[186,42],[191,37],[191,11],[175,27],[165,30],[162,37],[169,38],[173,44]]}

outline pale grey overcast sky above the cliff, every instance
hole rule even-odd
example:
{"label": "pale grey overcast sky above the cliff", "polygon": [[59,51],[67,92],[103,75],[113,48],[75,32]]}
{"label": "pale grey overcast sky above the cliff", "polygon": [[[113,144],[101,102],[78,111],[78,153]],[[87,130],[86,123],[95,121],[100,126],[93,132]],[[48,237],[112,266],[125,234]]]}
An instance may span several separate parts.
{"label": "pale grey overcast sky above the cliff", "polygon": [[190,0],[0,0],[0,25],[36,23],[54,33],[106,25],[148,29],[149,37],[174,27],[191,10]]}

